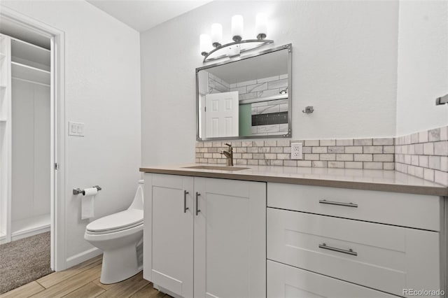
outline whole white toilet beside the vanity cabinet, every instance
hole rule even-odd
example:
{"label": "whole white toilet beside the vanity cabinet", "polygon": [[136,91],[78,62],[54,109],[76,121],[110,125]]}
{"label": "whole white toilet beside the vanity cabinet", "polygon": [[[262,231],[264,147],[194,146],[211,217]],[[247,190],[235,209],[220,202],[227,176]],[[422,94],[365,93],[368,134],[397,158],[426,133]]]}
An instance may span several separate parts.
{"label": "whole white toilet beside the vanity cabinet", "polygon": [[144,180],[139,180],[131,206],[90,222],[84,239],[103,250],[102,283],[118,283],[139,273],[137,246],[143,240]]}

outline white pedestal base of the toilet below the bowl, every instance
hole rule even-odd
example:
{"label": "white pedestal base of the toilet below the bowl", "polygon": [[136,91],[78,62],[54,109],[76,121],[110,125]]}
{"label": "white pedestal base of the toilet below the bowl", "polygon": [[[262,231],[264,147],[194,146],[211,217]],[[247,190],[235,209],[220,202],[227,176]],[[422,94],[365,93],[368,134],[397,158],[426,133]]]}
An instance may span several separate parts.
{"label": "white pedestal base of the toilet below the bowl", "polygon": [[118,283],[138,274],[141,270],[142,266],[139,266],[135,244],[114,250],[106,250],[103,254],[103,265],[99,281],[106,285]]}

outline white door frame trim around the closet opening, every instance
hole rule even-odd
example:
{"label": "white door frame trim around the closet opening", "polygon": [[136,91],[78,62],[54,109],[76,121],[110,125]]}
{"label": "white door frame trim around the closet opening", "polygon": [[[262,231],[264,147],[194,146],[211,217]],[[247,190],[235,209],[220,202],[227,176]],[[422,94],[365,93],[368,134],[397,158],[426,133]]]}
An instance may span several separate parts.
{"label": "white door frame trim around the closet opening", "polygon": [[65,34],[64,31],[1,6],[0,17],[20,29],[50,38],[50,235],[52,270],[66,269],[65,177]]}

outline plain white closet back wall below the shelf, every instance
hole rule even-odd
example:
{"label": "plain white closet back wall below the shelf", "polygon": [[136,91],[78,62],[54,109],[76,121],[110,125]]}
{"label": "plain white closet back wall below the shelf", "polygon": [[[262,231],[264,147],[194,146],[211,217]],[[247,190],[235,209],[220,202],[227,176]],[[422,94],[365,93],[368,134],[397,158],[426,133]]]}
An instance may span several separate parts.
{"label": "plain white closet back wall below the shelf", "polygon": [[14,222],[50,214],[50,87],[13,79],[12,94]]}

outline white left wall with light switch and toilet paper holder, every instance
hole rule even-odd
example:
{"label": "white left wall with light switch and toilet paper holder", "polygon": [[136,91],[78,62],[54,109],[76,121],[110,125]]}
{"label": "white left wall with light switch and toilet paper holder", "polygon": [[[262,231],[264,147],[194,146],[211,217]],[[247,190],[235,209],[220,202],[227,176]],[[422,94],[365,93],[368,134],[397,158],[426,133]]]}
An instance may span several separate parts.
{"label": "white left wall with light switch and toilet paper holder", "polygon": [[[95,215],[127,208],[140,177],[139,33],[86,1],[1,1],[65,32],[66,120],[85,137],[66,137],[66,257],[92,248],[83,239],[74,187],[100,185]],[[66,129],[66,128],[65,128]]]}

